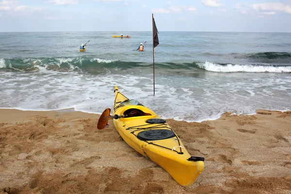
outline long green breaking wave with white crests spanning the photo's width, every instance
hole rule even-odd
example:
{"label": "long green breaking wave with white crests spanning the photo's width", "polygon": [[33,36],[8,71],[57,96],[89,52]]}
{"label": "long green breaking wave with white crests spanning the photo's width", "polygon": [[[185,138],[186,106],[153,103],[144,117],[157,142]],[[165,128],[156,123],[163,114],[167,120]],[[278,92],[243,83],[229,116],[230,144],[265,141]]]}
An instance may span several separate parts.
{"label": "long green breaking wave with white crests spanning the photo's width", "polygon": [[[152,68],[152,63],[126,62],[113,59],[99,59],[86,57],[59,57],[59,58],[10,58],[0,59],[0,69],[13,71],[81,71],[86,73],[103,73],[104,69],[128,70],[132,68]],[[236,65],[215,62],[192,63],[156,63],[156,69],[161,70],[187,70],[212,72],[291,72],[291,65]]]}

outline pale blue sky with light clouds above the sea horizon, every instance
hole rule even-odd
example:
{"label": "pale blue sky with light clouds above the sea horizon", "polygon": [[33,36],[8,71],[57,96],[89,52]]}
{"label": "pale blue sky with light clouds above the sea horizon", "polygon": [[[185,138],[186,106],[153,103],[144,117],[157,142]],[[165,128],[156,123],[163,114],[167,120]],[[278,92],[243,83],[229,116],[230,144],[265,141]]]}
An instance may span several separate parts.
{"label": "pale blue sky with light clouds above the sea horizon", "polygon": [[0,0],[0,32],[291,32],[291,0]]}

